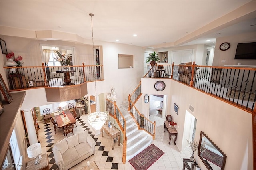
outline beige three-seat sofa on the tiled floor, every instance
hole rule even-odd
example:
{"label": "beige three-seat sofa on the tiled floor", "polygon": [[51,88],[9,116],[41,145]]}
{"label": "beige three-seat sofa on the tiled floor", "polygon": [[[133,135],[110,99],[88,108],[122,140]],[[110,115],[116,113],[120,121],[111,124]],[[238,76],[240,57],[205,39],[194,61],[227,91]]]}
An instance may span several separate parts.
{"label": "beige three-seat sofa on the tiled floor", "polygon": [[56,143],[52,151],[59,170],[67,170],[93,155],[95,144],[87,130]]}

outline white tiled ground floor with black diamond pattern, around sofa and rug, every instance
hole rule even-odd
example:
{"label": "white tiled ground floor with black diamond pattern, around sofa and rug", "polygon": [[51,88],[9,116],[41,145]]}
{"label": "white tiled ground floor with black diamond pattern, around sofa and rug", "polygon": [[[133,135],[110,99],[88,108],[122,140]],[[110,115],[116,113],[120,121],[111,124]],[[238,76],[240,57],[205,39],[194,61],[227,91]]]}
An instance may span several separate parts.
{"label": "white tiled ground floor with black diamond pattern, around sofa and rug", "polygon": [[[152,112],[154,109],[150,110]],[[173,140],[171,140],[171,145],[168,144],[169,134],[167,132],[164,133],[164,119],[161,118],[161,115],[158,115],[158,112],[150,113],[150,120],[156,121],[156,140],[152,141],[152,143],[165,152],[165,154],[148,169],[181,170],[183,166],[182,158],[189,158],[192,153],[189,150],[186,150],[183,154],[181,154],[176,145],[174,145]],[[40,122],[39,126],[39,140],[42,146],[42,153],[46,152],[48,154],[50,170],[58,170],[58,166],[55,164],[52,148],[56,142],[59,142],[65,138],[65,136],[63,136],[63,131],[62,129],[57,129],[57,134],[55,134],[52,122],[48,124]],[[74,127],[74,134],[86,129],[96,141],[95,154],[72,167],[70,170],[82,169],[88,160],[95,161],[100,170],[134,170],[128,161],[126,161],[126,164],[122,163],[122,145],[118,146],[118,144],[115,143],[114,150],[112,150],[111,138],[106,134],[103,138],[101,137],[101,134],[95,135],[91,126],[87,122],[87,115],[82,115],[79,119],[77,119],[77,127]],[[72,134],[68,134],[68,136],[71,135]]]}

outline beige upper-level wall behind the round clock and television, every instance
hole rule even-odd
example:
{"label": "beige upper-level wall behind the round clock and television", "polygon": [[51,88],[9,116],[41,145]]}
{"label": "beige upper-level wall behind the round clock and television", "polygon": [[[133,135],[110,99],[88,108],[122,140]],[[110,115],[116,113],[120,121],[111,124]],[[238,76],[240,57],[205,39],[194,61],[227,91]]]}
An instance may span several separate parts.
{"label": "beige upper-level wall behind the round clock and television", "polygon": [[[220,44],[228,42],[230,43],[230,49],[226,51],[220,50]],[[234,59],[236,54],[236,46],[238,43],[256,42],[256,32],[248,32],[244,34],[238,34],[235,36],[220,37],[216,39],[216,47],[214,52],[214,59],[212,65],[256,65],[256,60]],[[221,60],[226,60],[225,63],[221,63]]]}

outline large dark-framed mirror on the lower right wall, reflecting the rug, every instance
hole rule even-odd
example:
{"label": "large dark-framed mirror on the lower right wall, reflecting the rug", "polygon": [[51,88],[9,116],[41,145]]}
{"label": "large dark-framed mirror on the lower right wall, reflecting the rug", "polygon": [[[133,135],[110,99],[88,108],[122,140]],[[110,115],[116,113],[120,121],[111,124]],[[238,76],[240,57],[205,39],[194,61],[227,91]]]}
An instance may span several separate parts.
{"label": "large dark-framed mirror on the lower right wall, reflecting the rug", "polygon": [[224,170],[227,156],[201,131],[198,156],[208,170]]}

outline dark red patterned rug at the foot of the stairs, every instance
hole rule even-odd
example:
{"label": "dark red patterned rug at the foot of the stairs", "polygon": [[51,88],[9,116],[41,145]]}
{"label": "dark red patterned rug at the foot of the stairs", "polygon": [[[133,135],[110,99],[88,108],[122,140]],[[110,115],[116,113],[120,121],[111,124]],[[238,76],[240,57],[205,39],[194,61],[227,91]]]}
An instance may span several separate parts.
{"label": "dark red patterned rug at the foot of the stairs", "polygon": [[154,144],[151,144],[138,155],[129,160],[129,162],[136,170],[146,170],[163,154],[164,152],[162,150],[160,150]]}

